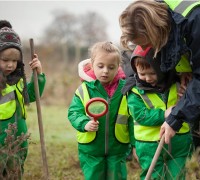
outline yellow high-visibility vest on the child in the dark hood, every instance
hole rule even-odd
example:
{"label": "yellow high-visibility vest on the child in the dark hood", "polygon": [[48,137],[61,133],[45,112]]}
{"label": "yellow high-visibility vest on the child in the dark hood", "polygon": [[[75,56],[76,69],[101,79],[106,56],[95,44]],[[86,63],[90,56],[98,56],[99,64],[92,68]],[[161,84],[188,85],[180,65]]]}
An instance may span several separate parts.
{"label": "yellow high-visibility vest on the child in the dark hood", "polygon": [[[140,94],[136,88],[132,91],[139,95],[148,109],[160,108],[166,110],[168,107],[173,106],[177,102],[177,86],[172,85],[168,95],[167,105],[161,100],[161,98],[155,93]],[[177,132],[183,134],[189,132],[189,126],[187,123],[183,123],[182,128]],[[142,126],[134,120],[134,135],[136,140],[140,141],[158,141],[160,133],[160,126]]]}

